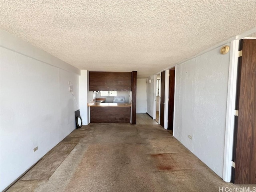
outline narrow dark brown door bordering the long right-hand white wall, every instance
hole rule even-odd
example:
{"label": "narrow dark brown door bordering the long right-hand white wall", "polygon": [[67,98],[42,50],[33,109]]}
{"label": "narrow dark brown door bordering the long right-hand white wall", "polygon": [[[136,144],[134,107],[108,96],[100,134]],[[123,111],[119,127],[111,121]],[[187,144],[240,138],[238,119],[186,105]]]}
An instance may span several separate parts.
{"label": "narrow dark brown door bordering the long right-hand white wall", "polygon": [[168,130],[172,130],[172,129],[173,129],[174,86],[175,86],[175,70],[170,69],[170,77],[169,77]]}

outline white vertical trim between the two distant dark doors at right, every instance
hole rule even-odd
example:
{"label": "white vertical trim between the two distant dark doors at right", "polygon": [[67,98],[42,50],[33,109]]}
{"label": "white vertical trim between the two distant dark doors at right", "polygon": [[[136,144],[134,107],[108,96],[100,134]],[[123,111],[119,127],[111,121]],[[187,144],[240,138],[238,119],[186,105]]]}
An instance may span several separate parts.
{"label": "white vertical trim between the two distant dark doors at right", "polygon": [[169,74],[170,71],[165,70],[165,87],[164,87],[164,129],[168,128],[168,112],[169,112]]}

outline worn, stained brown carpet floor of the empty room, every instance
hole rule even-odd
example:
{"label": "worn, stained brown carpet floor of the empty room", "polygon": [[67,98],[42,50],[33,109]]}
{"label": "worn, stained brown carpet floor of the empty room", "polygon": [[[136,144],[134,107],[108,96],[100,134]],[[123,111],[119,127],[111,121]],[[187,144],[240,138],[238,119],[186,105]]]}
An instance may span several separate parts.
{"label": "worn, stained brown carpet floor of the empty room", "polygon": [[74,130],[8,192],[218,192],[225,183],[160,125]]}

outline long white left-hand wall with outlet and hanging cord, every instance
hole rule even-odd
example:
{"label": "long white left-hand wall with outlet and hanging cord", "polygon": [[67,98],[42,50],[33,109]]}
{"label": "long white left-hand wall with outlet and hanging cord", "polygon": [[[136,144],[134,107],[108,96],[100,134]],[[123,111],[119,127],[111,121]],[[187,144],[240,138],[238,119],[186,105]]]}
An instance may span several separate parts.
{"label": "long white left-hand wall with outlet and hanging cord", "polygon": [[2,191],[76,128],[80,70],[3,30],[0,51]]}

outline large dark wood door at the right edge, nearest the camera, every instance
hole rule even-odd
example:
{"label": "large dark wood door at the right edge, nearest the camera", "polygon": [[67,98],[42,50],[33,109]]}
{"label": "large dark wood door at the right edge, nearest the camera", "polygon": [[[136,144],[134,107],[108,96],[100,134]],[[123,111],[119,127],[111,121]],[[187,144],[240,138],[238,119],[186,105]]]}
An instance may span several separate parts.
{"label": "large dark wood door at the right edge, nearest the camera", "polygon": [[256,184],[256,40],[242,40],[235,184]]}

